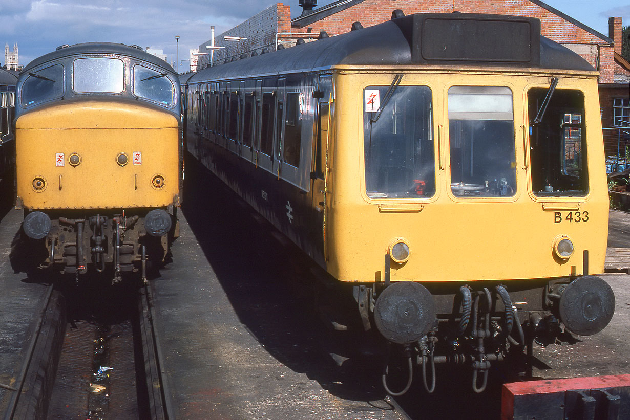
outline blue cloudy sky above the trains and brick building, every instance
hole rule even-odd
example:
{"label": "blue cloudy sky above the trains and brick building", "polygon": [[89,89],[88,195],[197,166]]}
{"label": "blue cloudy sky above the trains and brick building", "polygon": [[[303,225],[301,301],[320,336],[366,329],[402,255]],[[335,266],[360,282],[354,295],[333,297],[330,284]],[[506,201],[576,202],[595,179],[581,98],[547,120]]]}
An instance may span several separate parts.
{"label": "blue cloudy sky above the trains and brick building", "polygon": [[[330,3],[318,1],[318,7]],[[292,15],[302,9],[289,4]],[[0,42],[18,43],[20,64],[28,64],[59,45],[107,41],[164,50],[175,62],[175,35],[180,36],[181,71],[186,71],[188,50],[238,25],[275,2],[269,0],[0,0]],[[608,18],[621,16],[630,25],[630,0],[547,0],[545,3],[585,25],[608,35]],[[4,45],[0,45],[4,46]],[[4,55],[0,53],[4,64]]]}

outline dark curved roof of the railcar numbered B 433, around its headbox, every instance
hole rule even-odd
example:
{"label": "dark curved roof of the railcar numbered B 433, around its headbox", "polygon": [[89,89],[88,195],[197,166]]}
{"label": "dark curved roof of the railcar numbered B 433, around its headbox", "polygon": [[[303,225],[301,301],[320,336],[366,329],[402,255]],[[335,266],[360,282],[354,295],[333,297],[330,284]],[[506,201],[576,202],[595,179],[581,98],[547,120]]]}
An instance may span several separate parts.
{"label": "dark curved roof of the railcar numbered B 433, around its headbox", "polygon": [[[449,14],[450,15],[450,14]],[[458,14],[466,19],[468,16],[479,18],[479,14]],[[413,46],[414,16],[392,18],[379,25],[343,33],[336,37],[321,38],[314,42],[296,45],[295,47],[261,54],[247,59],[236,60],[227,64],[216,65],[198,71],[188,78],[188,82],[201,82],[207,79],[224,79],[247,77],[254,74],[280,74],[289,72],[312,71],[326,69],[335,65],[411,65]],[[432,14],[424,16],[445,16]],[[518,18],[503,16],[503,18]],[[527,19],[527,18],[522,18]],[[563,69],[575,71],[594,71],[592,65],[566,47],[546,37],[540,37],[540,62],[536,65],[520,65],[520,67],[536,67],[541,69]],[[417,48],[417,47],[416,47]],[[442,63],[443,64],[443,63]],[[451,62],[450,65],[454,65]],[[459,62],[459,65],[484,65],[495,67],[505,63],[472,63]],[[510,63],[512,66],[518,65]],[[181,81],[182,83],[185,80]]]}

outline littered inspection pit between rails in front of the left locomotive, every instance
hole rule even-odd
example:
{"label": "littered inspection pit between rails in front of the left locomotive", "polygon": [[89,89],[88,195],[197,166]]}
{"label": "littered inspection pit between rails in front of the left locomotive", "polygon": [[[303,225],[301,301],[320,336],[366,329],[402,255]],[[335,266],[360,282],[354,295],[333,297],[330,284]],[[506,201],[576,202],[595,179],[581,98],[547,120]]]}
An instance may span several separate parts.
{"label": "littered inspection pit between rails in front of the left locomotive", "polygon": [[49,286],[6,419],[174,419],[145,285]]}

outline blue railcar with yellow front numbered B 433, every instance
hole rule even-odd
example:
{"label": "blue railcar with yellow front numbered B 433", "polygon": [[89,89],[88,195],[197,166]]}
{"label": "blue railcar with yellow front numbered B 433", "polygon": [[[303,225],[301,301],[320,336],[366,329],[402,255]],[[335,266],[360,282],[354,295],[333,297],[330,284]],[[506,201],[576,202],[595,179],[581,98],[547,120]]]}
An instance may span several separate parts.
{"label": "blue railcar with yellow front numbered B 433", "polygon": [[[612,318],[598,73],[535,18],[413,14],[187,76],[185,148],[435,388]],[[387,371],[385,371],[387,372]]]}

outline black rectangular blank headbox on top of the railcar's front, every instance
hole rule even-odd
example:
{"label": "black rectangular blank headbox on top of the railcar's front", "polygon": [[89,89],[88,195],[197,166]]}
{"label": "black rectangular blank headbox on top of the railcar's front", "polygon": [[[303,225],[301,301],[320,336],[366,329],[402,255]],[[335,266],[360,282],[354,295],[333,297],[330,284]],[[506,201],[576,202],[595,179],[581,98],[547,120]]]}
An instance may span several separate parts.
{"label": "black rectangular blank headbox on top of the railcar's front", "polygon": [[416,15],[413,62],[540,64],[539,20],[500,15],[465,16],[458,13]]}

